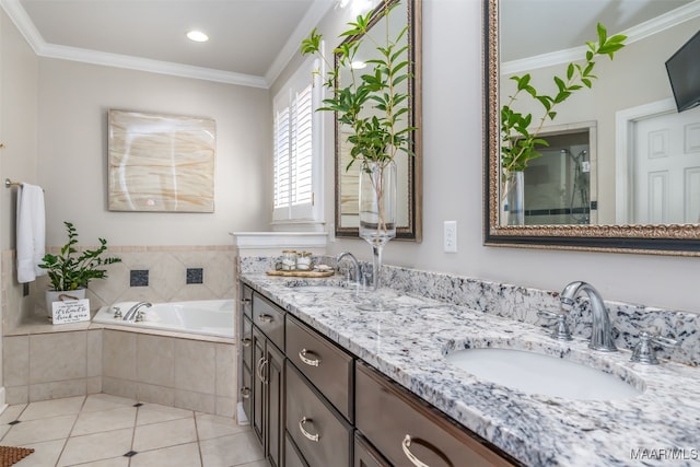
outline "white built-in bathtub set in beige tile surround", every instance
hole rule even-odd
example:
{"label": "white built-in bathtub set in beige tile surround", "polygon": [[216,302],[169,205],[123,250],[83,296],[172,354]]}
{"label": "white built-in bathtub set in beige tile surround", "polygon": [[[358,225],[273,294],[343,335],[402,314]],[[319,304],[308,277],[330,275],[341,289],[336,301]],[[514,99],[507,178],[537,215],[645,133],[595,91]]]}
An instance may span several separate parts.
{"label": "white built-in bathtub set in beige tile surround", "polygon": [[92,318],[93,323],[113,326],[128,326],[140,329],[156,329],[233,338],[234,302],[233,300],[198,300],[188,302],[153,303],[142,307],[144,320],[125,322],[114,317],[114,308],[118,307],[122,315],[138,302],[119,302],[112,306],[103,306]]}

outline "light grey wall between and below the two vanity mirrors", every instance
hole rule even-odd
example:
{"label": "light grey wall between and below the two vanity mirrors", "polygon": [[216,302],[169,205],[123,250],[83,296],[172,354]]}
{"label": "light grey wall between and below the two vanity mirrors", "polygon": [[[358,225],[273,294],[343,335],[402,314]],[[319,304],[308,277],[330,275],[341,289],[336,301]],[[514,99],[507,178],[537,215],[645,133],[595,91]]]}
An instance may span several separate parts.
{"label": "light grey wall between and below the two vanity mirrors", "polygon": [[[607,300],[700,311],[700,258],[482,245],[481,34],[479,0],[423,0],[423,242],[389,242],[386,262],[556,291],[586,280]],[[445,220],[457,221],[457,254],[442,253]],[[336,240],[340,250],[371,258],[361,240]]]}

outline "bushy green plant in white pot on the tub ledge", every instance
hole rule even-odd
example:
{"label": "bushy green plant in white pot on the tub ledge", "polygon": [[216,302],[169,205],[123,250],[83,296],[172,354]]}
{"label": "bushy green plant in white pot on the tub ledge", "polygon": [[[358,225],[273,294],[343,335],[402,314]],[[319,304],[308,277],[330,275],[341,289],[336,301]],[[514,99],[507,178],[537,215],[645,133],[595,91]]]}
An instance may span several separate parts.
{"label": "bushy green plant in white pot on the tub ledge", "polygon": [[[68,233],[68,243],[58,255],[46,254],[39,268],[46,269],[49,290],[46,291],[46,311],[51,316],[51,303],[63,299],[84,299],[88,283],[93,279],[105,279],[103,266],[121,262],[121,258],[102,257],[107,249],[107,241],[98,238],[100,247],[95,249],[75,248],[78,231],[71,222],[63,222]],[[63,296],[65,295],[65,296]]]}

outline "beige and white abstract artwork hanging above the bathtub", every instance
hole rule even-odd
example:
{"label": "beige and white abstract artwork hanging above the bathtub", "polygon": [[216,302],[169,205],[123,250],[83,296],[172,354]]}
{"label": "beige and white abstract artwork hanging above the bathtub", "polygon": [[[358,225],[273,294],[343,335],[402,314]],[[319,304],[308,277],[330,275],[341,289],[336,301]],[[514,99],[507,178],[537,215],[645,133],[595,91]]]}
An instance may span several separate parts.
{"label": "beige and white abstract artwork hanging above the bathtub", "polygon": [[108,110],[110,211],[213,212],[211,118]]}

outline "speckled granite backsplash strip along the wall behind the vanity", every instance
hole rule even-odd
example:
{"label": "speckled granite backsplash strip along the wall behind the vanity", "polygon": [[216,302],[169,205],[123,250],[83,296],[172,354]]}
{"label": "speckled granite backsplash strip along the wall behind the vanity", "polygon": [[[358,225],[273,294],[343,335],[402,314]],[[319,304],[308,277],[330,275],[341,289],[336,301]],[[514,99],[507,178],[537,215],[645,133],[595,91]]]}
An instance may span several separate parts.
{"label": "speckled granite backsplash strip along the wall behind the vanity", "polygon": [[[329,266],[336,266],[332,257],[316,258]],[[237,258],[236,273],[261,273],[275,267],[278,257]],[[363,269],[372,265],[363,262]],[[537,316],[540,310],[558,312],[559,291],[547,291],[514,284],[491,282],[444,272],[430,272],[385,265],[382,283],[400,292],[434,299],[465,306],[482,313],[494,314],[516,320],[545,325]],[[565,284],[562,284],[562,289]],[[595,284],[594,284],[595,285]],[[605,300],[605,296],[603,297]],[[587,301],[579,299],[581,306],[570,314],[572,334],[591,336],[591,312]],[[664,310],[631,303],[605,301],[612,326],[617,332],[616,345],[622,349],[632,349],[642,330],[677,339],[675,348],[661,348],[656,355],[692,366],[700,364],[700,314]]]}

